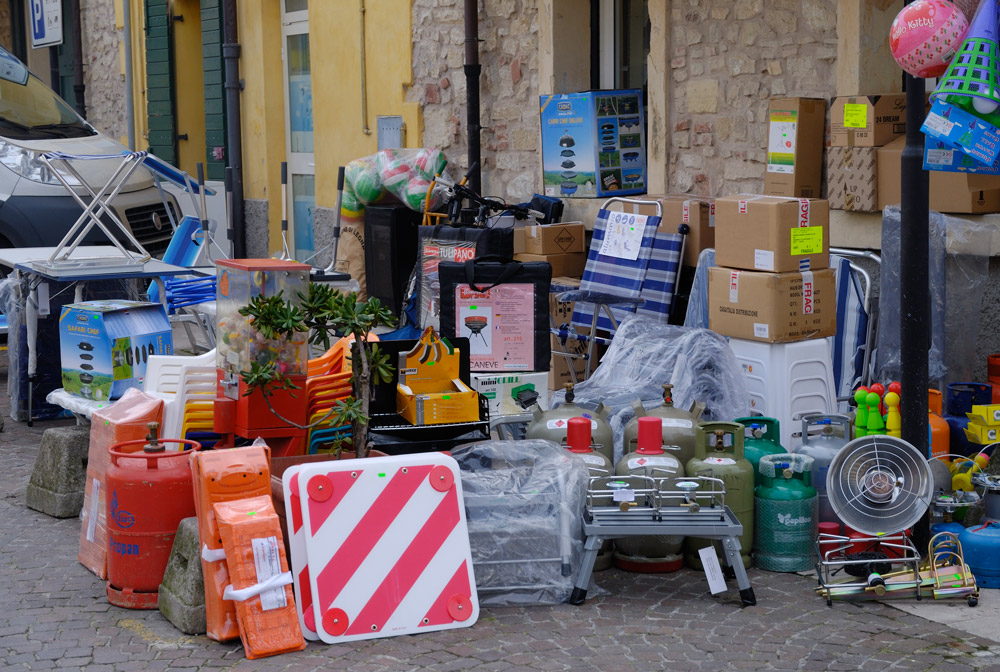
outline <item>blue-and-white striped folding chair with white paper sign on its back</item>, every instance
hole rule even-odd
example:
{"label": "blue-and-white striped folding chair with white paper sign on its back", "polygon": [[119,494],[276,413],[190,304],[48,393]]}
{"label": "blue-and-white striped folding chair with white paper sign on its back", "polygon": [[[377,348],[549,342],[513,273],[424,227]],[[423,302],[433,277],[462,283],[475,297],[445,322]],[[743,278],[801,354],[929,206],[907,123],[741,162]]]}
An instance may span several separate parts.
{"label": "blue-and-white striped folding chair with white paper sign on its back", "polygon": [[[656,215],[636,215],[612,206],[655,206]],[[658,231],[662,211],[656,201],[611,198],[604,202],[594,222],[583,280],[577,290],[559,293],[560,301],[576,305],[569,324],[552,325],[562,346],[553,353],[585,359],[584,377],[590,376],[594,347],[609,345],[618,323],[630,313],[667,322],[673,307],[687,225],[678,233]],[[581,329],[586,330],[581,333]],[[601,336],[600,333],[607,334]],[[567,341],[586,343],[584,353],[570,352]],[[570,367],[576,382],[576,372]]]}

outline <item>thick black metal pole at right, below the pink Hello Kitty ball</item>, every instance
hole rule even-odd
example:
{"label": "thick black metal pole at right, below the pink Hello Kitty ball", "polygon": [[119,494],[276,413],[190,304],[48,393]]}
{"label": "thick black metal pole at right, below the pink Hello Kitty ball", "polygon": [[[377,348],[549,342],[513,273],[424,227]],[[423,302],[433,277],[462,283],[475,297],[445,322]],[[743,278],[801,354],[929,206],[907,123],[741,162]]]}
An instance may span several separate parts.
{"label": "thick black metal pole at right, below the pink Hello Kitty ball", "polygon": [[[928,175],[923,169],[924,80],[905,76],[906,145],[902,158],[902,195],[899,241],[900,362],[903,367],[901,404],[902,435],[921,455],[927,446],[927,353],[930,349],[930,287],[928,256],[930,236]],[[892,319],[885,316],[883,319]],[[930,539],[930,520],[924,514],[913,530],[918,549]]]}

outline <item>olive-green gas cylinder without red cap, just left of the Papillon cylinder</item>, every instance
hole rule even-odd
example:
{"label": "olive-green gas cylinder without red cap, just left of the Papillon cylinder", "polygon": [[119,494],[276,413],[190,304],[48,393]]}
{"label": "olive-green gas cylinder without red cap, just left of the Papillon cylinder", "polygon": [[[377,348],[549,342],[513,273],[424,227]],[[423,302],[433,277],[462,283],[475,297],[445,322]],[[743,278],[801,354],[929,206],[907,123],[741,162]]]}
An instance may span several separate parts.
{"label": "olive-green gas cylinder without red cap, just left of the Papillon cylinder", "polygon": [[[753,545],[753,467],[743,456],[743,425],[735,422],[702,422],[694,444],[694,457],[685,468],[688,476],[719,478],[726,487],[726,506],[743,525],[740,553],[743,566],[750,567]],[[684,562],[688,567],[702,569],[698,551],[710,541],[688,537],[684,542]],[[722,557],[721,546],[716,552]]]}

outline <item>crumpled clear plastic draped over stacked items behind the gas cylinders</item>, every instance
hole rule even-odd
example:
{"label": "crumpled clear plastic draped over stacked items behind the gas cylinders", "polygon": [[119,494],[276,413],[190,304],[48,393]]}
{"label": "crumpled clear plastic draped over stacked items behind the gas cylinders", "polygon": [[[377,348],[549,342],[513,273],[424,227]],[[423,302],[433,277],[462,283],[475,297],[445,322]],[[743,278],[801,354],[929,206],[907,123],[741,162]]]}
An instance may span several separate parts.
{"label": "crumpled clear plastic draped over stacked items behind the gas cylinders", "polygon": [[[639,400],[646,408],[659,406],[667,383],[674,386],[678,408],[690,408],[694,401],[705,404],[704,421],[731,421],[749,414],[746,376],[725,337],[638,315],[619,325],[601,365],[574,388],[574,403],[596,409],[603,402],[608,408],[617,462],[624,452],[625,426],[635,417],[632,402]],[[565,390],[556,392],[552,406],[561,404],[565,396]]]}

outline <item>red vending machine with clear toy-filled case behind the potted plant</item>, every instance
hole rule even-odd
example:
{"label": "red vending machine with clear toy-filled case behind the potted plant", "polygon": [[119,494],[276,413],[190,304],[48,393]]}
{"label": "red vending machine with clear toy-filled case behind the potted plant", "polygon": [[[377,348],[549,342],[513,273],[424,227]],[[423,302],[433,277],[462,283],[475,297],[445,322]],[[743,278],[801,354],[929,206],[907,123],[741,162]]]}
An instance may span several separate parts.
{"label": "red vending machine with clear toy-filled case behind the potted plant", "polygon": [[[274,428],[290,429],[270,406],[285,418],[306,424],[305,379],[309,347],[307,336],[297,333],[291,339],[266,339],[251,324],[251,318],[240,309],[257,296],[281,294],[283,299],[299,305],[299,292],[309,289],[310,266],[278,259],[220,259],[216,261],[216,367],[219,375],[219,396],[236,401],[235,430],[240,436],[271,438],[260,433]],[[265,399],[258,390],[245,396],[246,383],[241,371],[252,364],[273,363],[299,390],[275,390]],[[294,394],[297,392],[298,394]],[[255,433],[256,432],[256,433]]]}

